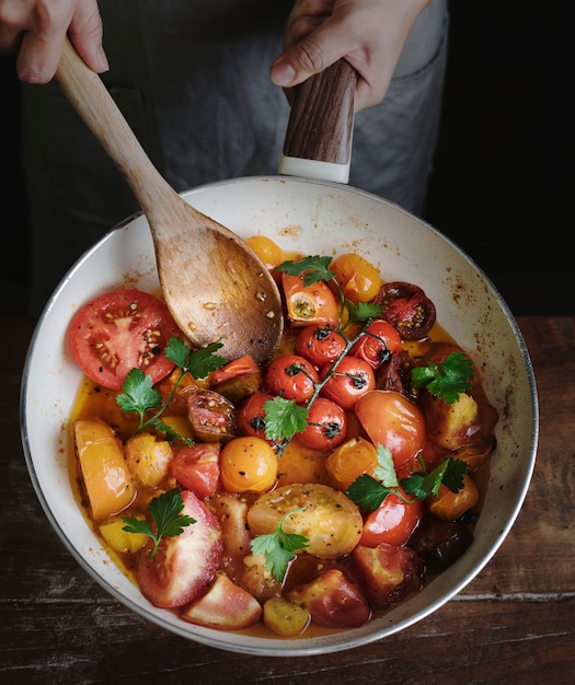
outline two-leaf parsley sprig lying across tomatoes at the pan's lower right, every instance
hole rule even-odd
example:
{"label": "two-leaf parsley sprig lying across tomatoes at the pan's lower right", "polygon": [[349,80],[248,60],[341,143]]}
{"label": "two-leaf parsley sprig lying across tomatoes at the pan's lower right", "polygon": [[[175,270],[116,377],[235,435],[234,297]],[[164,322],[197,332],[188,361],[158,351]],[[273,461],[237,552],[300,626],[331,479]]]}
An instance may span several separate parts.
{"label": "two-leaf parsley sprig lying across tomatoes at the pan's lower right", "polygon": [[[347,497],[365,511],[376,511],[391,494],[404,502],[413,503],[429,495],[437,495],[441,484],[452,492],[458,492],[463,487],[463,476],[468,467],[463,460],[449,456],[432,472],[414,473],[399,481],[390,450],[378,443],[377,453],[379,466],[373,471],[376,477],[363,474],[346,490]],[[411,499],[405,497],[402,489]]]}

